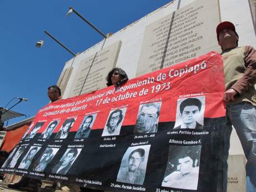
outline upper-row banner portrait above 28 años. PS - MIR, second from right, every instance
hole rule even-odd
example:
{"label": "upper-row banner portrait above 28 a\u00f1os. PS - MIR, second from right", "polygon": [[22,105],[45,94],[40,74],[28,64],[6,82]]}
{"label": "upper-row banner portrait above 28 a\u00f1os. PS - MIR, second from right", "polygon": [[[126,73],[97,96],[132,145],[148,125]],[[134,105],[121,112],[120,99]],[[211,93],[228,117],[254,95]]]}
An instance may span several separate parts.
{"label": "upper-row banner portrait above 28 a\u00f1os. PS - MIR, second from right", "polygon": [[134,133],[147,134],[157,132],[162,102],[141,104],[137,115]]}

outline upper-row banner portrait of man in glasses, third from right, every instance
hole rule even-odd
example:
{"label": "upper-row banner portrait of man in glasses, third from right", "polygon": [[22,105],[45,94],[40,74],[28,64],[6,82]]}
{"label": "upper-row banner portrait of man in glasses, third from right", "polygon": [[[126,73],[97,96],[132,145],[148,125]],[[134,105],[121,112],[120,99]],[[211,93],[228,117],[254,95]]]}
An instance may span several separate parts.
{"label": "upper-row banner portrait of man in glasses, third from right", "polygon": [[111,110],[101,136],[119,135],[127,108]]}

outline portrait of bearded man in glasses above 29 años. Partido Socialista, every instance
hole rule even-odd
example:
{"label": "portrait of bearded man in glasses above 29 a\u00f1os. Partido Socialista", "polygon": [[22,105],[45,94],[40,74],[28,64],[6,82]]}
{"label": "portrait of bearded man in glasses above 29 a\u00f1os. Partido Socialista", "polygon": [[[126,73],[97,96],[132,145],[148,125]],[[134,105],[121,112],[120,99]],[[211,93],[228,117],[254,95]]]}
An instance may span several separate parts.
{"label": "portrait of bearded man in glasses above 29 a\u00f1os. Partido Socialista", "polygon": [[122,157],[117,182],[142,185],[145,179],[150,145],[129,147]]}

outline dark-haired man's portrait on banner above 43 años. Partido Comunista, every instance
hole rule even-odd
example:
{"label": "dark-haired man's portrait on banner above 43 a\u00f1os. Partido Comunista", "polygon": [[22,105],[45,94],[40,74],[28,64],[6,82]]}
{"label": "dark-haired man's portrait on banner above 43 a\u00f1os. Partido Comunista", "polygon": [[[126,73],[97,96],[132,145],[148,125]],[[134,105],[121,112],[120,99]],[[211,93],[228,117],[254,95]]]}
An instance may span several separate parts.
{"label": "dark-haired man's portrait on banner above 43 a\u00f1os. Partido Comunista", "polygon": [[203,129],[205,96],[179,99],[174,129]]}

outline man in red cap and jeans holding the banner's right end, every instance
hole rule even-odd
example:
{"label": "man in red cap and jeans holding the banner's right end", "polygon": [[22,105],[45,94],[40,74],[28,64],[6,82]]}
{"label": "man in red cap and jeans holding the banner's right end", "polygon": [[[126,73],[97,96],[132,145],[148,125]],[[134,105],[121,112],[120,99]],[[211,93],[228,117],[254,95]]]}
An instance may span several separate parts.
{"label": "man in red cap and jeans holding the banner's right end", "polygon": [[227,104],[224,142],[223,191],[227,191],[227,159],[232,125],[243,146],[247,165],[247,192],[256,191],[256,51],[251,46],[238,47],[239,36],[233,23],[225,21],[216,27],[224,62]]}

